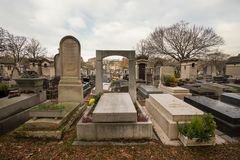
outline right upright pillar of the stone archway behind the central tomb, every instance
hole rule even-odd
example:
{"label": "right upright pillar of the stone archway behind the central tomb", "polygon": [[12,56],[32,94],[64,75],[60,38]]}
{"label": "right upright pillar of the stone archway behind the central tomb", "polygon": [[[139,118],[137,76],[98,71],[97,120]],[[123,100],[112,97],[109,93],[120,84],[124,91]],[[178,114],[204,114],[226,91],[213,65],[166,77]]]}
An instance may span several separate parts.
{"label": "right upright pillar of the stone archway behind the central tomb", "polygon": [[129,59],[129,94],[133,103],[136,102],[136,77],[135,77],[135,59]]}

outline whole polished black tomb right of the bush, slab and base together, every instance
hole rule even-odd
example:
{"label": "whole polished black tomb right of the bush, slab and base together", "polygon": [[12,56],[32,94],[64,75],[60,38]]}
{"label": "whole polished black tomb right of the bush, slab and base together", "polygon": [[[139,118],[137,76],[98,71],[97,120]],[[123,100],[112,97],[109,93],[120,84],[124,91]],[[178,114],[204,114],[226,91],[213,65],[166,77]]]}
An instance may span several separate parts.
{"label": "whole polished black tomb right of the bush, slab and base together", "polygon": [[204,96],[185,97],[185,102],[212,113],[217,128],[230,136],[240,136],[240,108]]}

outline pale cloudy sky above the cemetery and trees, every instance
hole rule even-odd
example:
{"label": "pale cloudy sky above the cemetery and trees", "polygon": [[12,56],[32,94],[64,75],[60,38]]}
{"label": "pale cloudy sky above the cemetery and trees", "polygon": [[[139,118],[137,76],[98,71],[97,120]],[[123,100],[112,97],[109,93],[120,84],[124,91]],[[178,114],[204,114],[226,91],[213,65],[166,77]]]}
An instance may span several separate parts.
{"label": "pale cloudy sky above the cemetery and trees", "polygon": [[135,49],[158,26],[180,21],[211,27],[240,53],[240,0],[0,0],[0,27],[39,40],[48,56],[73,35],[84,60],[98,49]]}

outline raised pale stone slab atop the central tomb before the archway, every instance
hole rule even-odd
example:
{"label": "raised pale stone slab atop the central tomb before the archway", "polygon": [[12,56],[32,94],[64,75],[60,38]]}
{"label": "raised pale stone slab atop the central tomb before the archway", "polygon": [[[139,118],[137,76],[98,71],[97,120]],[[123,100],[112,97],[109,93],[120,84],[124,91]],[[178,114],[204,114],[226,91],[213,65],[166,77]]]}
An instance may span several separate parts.
{"label": "raised pale stone slab atop the central tomb before the archway", "polygon": [[137,111],[129,93],[104,93],[93,111],[93,122],[136,122]]}

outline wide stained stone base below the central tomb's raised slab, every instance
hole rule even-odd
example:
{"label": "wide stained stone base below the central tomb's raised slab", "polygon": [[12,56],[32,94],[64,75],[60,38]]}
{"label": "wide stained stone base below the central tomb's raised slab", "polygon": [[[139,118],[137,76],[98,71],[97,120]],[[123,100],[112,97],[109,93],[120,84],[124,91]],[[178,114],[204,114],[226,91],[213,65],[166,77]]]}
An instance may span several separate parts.
{"label": "wide stained stone base below the central tomb's raised slab", "polygon": [[[90,108],[85,112],[89,112]],[[145,114],[145,113],[143,113]],[[77,140],[113,140],[113,139],[151,139],[153,136],[152,122],[113,122],[77,124]]]}

